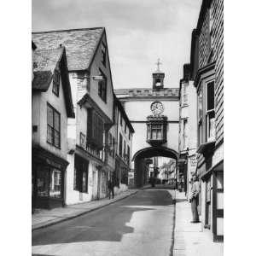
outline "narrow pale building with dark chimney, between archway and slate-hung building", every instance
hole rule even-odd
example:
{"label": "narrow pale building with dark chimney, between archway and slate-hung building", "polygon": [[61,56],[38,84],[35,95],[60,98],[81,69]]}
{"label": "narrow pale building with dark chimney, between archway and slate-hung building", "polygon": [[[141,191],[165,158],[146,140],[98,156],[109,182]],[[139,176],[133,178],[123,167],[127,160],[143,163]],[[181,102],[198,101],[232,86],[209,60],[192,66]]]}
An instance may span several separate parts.
{"label": "narrow pale building with dark chimney, between archway and slate-hung building", "polygon": [[190,80],[190,65],[183,66],[183,79],[179,85],[179,138],[178,181],[183,175],[183,189],[189,196],[192,174],[196,172],[197,150],[197,95],[194,81]]}

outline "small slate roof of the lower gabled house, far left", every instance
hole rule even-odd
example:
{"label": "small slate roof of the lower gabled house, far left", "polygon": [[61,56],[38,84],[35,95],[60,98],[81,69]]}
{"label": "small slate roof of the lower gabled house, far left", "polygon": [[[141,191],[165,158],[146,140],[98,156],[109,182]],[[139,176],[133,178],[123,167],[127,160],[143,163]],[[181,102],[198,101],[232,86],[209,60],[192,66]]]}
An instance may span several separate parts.
{"label": "small slate roof of the lower gabled house, far left", "polygon": [[55,67],[61,60],[63,48],[35,49],[33,55],[33,90],[48,90]]}

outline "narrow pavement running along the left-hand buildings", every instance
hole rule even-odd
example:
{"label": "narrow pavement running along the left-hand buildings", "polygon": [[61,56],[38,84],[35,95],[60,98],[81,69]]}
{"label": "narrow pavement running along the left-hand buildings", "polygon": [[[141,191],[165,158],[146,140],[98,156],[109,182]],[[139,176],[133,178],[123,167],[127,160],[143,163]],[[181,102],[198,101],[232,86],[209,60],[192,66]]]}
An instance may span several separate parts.
{"label": "narrow pavement running along the left-hand buildings", "polygon": [[95,211],[96,209],[108,206],[115,201],[134,195],[137,191],[138,189],[128,189],[127,191],[116,195],[114,199],[111,200],[104,198],[98,201],[89,201],[67,207],[58,207],[51,210],[37,209],[36,212],[32,214],[32,230],[38,230],[70,218],[75,218],[84,213]]}

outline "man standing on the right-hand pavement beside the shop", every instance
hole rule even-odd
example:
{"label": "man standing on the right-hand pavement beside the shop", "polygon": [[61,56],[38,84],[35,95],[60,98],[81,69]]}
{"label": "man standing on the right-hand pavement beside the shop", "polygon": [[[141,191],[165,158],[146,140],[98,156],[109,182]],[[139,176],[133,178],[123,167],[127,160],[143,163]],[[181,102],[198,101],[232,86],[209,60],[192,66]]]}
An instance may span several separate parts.
{"label": "man standing on the right-hand pavement beside the shop", "polygon": [[189,202],[191,203],[191,211],[193,220],[191,223],[198,223],[199,222],[199,216],[198,216],[198,203],[199,203],[199,193],[200,193],[200,183],[198,181],[198,176],[196,174],[193,174],[192,176],[192,182],[191,182],[191,191],[189,196]]}

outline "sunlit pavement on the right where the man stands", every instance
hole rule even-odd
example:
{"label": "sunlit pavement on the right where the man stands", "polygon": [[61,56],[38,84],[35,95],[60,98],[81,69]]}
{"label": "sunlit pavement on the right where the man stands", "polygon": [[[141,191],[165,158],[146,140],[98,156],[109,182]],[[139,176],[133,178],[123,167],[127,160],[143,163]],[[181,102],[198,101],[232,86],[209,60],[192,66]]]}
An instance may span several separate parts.
{"label": "sunlit pavement on the right where the man stands", "polygon": [[176,190],[176,221],[173,256],[222,256],[224,244],[213,242],[210,231],[202,231],[201,223],[190,223],[189,201]]}

